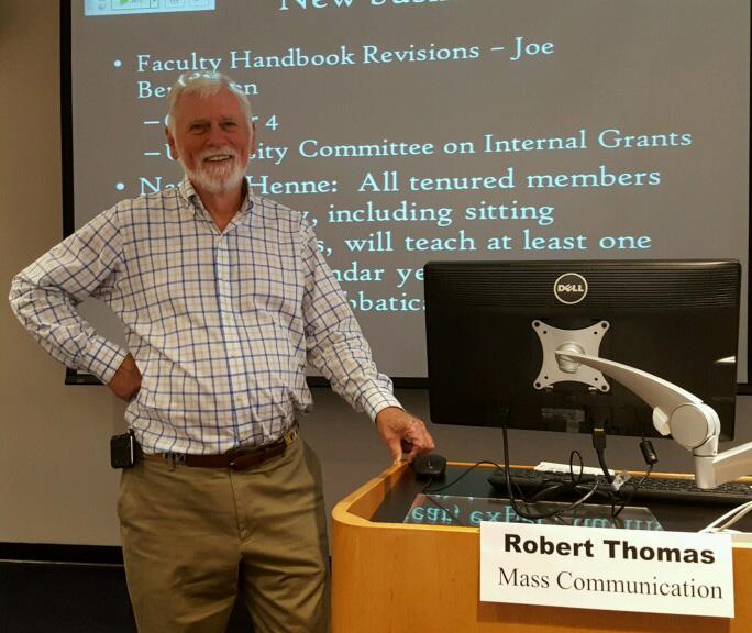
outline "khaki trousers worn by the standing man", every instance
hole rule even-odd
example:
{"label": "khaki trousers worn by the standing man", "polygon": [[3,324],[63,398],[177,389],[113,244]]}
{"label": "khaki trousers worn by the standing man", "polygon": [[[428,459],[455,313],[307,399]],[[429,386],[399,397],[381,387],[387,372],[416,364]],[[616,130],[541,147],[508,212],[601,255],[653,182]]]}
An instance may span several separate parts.
{"label": "khaki trousers worn by the standing man", "polygon": [[257,633],[328,630],[321,474],[301,440],[242,471],[145,457],[118,514],[140,633],[224,633],[239,592]]}

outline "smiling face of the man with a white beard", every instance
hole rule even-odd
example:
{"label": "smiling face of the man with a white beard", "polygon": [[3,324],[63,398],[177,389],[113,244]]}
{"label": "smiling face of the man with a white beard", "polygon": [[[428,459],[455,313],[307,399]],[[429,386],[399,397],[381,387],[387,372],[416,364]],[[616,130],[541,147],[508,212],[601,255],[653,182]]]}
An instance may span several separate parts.
{"label": "smiling face of the man with a white beard", "polygon": [[254,131],[228,88],[208,97],[183,95],[167,141],[199,195],[240,192],[256,149]]}

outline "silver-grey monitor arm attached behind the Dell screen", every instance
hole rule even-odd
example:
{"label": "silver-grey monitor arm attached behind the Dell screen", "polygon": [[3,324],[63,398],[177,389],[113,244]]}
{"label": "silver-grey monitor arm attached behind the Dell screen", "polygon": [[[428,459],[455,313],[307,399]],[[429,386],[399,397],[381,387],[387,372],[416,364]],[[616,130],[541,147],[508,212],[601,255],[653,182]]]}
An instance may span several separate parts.
{"label": "silver-grey monitor arm attached behind the Dell screen", "polygon": [[720,484],[752,474],[752,442],[718,454],[720,420],[712,407],[697,396],[671,382],[613,360],[578,354],[569,349],[555,352],[560,368],[576,374],[579,365],[597,369],[618,380],[653,408],[653,425],[661,435],[673,438],[695,457],[695,482],[698,488]]}

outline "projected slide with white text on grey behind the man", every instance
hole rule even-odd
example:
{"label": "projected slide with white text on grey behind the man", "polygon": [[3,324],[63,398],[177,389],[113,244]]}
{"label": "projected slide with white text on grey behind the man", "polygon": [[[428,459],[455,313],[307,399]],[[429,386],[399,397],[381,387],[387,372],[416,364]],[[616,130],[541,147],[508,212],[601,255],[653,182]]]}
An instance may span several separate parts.
{"label": "projected slide with white text on grey behind the man", "polygon": [[75,224],[179,182],[169,87],[225,73],[250,184],[316,224],[391,376],[425,376],[430,259],[738,258],[747,288],[749,0],[73,4]]}

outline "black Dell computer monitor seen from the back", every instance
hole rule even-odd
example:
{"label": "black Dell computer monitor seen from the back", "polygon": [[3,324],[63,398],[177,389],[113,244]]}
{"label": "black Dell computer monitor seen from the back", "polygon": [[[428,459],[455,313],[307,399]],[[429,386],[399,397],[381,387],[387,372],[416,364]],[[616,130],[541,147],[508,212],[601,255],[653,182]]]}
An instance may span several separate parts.
{"label": "black Dell computer monitor seen from the back", "polygon": [[657,436],[652,410],[626,387],[597,373],[567,380],[552,365],[554,348],[582,340],[585,353],[710,404],[731,440],[740,277],[730,260],[431,262],[431,420]]}

